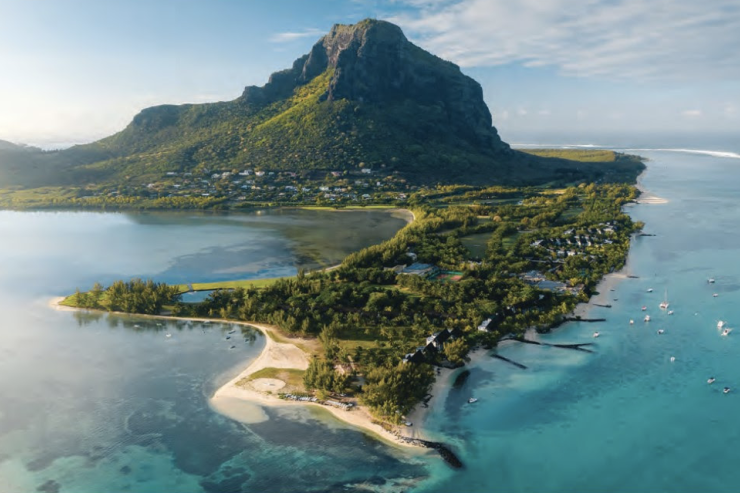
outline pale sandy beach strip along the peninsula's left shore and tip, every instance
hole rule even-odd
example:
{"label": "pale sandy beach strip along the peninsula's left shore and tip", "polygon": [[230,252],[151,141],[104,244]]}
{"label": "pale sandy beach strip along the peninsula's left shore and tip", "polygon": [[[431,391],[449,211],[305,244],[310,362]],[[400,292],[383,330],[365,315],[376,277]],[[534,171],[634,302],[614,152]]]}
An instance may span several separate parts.
{"label": "pale sandy beach strip along the peninsula's left shore and tip", "polygon": [[[57,296],[51,298],[47,305],[55,310],[64,312],[73,311],[90,311],[98,313],[109,313],[113,315],[126,315],[134,317],[152,318],[158,320],[182,320],[192,322],[208,322],[208,323],[225,323],[225,324],[236,324],[254,327],[265,337],[265,347],[260,352],[259,356],[249,363],[249,365],[242,370],[236,377],[229,380],[227,383],[219,387],[216,392],[208,399],[209,406],[216,412],[223,414],[231,419],[237,421],[243,421],[245,423],[256,422],[259,419],[256,416],[257,411],[253,408],[243,407],[234,405],[234,403],[245,402],[262,407],[287,407],[287,406],[303,406],[312,407],[314,409],[323,409],[327,411],[335,419],[338,419],[342,423],[349,425],[353,428],[358,428],[361,431],[372,435],[390,445],[403,447],[405,449],[425,450],[425,447],[420,445],[409,443],[403,438],[402,432],[398,432],[398,435],[386,430],[380,424],[374,421],[370,412],[364,406],[355,406],[351,411],[345,411],[330,405],[323,405],[316,402],[305,402],[305,401],[293,401],[288,399],[280,399],[277,395],[273,395],[268,388],[272,384],[275,390],[279,390],[280,386],[275,381],[277,379],[258,378],[251,380],[248,384],[251,384],[251,388],[245,388],[247,385],[238,385],[238,383],[244,378],[248,378],[250,375],[264,369],[264,368],[278,368],[278,369],[298,369],[305,370],[308,368],[309,356],[306,352],[300,349],[292,342],[277,342],[273,339],[272,334],[278,334],[277,337],[286,341],[295,341],[300,343],[306,341],[298,338],[288,338],[282,333],[277,332],[274,327],[264,325],[261,323],[243,322],[240,320],[228,320],[228,319],[213,319],[213,318],[200,318],[200,317],[173,317],[168,315],[145,315],[136,313],[125,313],[125,312],[110,312],[106,310],[86,309],[86,308],[73,308],[68,306],[60,305],[59,302],[64,300],[64,296]],[[281,380],[277,380],[282,382]],[[436,382],[435,382],[436,383]],[[255,389],[262,388],[264,390]],[[270,393],[268,393],[270,392]],[[241,409],[237,409],[241,408]],[[264,411],[262,411],[264,414]],[[264,420],[264,418],[260,419]],[[400,427],[398,427],[400,428]]]}

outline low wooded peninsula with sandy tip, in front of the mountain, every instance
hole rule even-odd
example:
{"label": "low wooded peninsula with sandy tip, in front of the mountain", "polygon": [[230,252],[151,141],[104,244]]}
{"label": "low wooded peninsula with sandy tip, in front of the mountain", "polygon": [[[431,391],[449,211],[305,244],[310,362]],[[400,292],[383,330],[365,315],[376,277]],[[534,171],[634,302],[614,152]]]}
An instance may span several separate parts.
{"label": "low wooded peninsula with sandy tip, in front of the mountain", "polygon": [[[395,443],[436,448],[420,429],[435,374],[566,321],[623,267],[642,224],[622,206],[638,195],[626,184],[437,187],[409,198],[414,220],[392,239],[333,269],[207,285],[117,281],[60,304],[252,325],[265,349],[214,402],[322,405]],[[183,303],[194,288],[212,292]]]}

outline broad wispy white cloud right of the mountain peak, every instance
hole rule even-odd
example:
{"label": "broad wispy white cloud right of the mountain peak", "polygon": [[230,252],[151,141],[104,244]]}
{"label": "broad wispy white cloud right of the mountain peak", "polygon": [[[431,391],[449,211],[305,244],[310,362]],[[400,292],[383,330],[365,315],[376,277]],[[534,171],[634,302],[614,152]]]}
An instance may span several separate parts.
{"label": "broad wispy white cloud right of the mountain peak", "polygon": [[549,65],[578,76],[736,78],[740,2],[405,0],[392,20],[464,66]]}

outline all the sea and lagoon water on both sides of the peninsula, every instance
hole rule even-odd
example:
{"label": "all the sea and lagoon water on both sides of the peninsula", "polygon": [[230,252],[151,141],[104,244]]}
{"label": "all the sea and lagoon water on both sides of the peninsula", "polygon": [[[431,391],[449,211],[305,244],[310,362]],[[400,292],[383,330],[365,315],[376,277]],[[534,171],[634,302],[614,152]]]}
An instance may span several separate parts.
{"label": "all the sea and lagoon water on both sides of the peninsula", "polygon": [[[437,396],[428,434],[450,444],[464,469],[320,412],[267,409],[268,419],[253,424],[215,413],[208,396],[256,357],[264,343],[257,332],[240,332],[230,350],[230,325],[157,325],[47,306],[52,296],[121,277],[185,282],[331,265],[392,236],[401,219],[6,211],[0,493],[736,491],[740,142],[526,143],[643,155],[641,186],[666,203],[628,207],[655,236],[633,242],[624,274],[636,278],[602,288],[612,307],[589,308],[607,321],[539,336],[594,342],[594,352],[506,343],[498,352],[526,370],[484,355],[462,388]],[[333,248],[318,247],[321,238]],[[666,292],[672,315],[658,308]],[[722,336],[718,320],[737,330]],[[724,386],[733,391],[723,394]],[[471,396],[478,402],[467,404]]]}

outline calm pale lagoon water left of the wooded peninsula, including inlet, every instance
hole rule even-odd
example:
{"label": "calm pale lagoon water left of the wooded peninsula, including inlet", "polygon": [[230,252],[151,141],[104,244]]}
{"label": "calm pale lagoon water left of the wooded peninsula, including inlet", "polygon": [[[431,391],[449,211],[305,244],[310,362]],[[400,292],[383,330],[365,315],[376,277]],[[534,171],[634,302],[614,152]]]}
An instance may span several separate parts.
{"label": "calm pale lagoon water left of the wooded peninsula, including inlet", "polygon": [[249,425],[211,410],[208,397],[259,354],[257,331],[226,340],[230,324],[47,304],[133,276],[293,275],[404,224],[377,211],[0,211],[0,492],[326,491],[423,476],[413,457],[308,410],[267,409]]}

